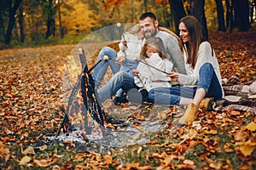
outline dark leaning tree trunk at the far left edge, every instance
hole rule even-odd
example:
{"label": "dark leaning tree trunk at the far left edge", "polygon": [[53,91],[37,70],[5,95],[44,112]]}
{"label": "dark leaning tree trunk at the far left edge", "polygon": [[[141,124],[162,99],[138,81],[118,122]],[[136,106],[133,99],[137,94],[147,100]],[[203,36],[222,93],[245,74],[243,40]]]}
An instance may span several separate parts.
{"label": "dark leaning tree trunk at the far left edge", "polygon": [[4,41],[5,45],[9,45],[9,43],[10,43],[12,30],[13,30],[14,24],[15,24],[16,10],[17,10],[17,8],[19,8],[21,1],[22,0],[15,0],[15,3],[14,3],[13,7],[12,7],[12,1],[8,2],[9,23],[8,23],[7,31],[6,31],[6,34],[5,34],[5,41]]}

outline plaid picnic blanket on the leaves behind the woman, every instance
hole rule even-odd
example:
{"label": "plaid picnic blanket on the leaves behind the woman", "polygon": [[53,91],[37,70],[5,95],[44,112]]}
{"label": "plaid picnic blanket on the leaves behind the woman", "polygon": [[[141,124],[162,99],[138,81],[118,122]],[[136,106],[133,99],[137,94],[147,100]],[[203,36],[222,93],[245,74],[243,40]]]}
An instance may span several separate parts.
{"label": "plaid picnic blanket on the leaves behind the woman", "polygon": [[212,105],[215,111],[246,111],[256,113],[256,81],[247,85],[239,84],[240,79],[230,77],[224,85],[224,99],[215,101]]}

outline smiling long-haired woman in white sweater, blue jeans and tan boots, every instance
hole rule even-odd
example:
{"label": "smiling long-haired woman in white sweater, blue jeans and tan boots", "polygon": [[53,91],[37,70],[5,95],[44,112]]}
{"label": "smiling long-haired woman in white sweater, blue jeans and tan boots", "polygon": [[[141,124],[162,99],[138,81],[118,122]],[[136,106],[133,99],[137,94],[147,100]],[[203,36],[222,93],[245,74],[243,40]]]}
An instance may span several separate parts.
{"label": "smiling long-haired woman in white sweater, blue jeans and tan boots", "polygon": [[207,107],[209,100],[223,98],[224,91],[218,60],[202,35],[201,23],[189,15],[179,21],[178,29],[187,75],[171,72],[168,77],[184,87],[154,88],[148,98],[158,104],[189,105],[179,123],[190,124],[200,104],[206,103]]}

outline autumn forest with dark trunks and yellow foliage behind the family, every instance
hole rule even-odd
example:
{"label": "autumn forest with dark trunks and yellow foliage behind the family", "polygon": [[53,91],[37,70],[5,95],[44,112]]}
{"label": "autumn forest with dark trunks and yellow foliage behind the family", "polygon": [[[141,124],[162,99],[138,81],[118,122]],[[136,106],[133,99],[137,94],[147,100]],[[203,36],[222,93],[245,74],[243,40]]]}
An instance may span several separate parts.
{"label": "autumn forest with dark trunks and yellow foliage behind the family", "polygon": [[208,29],[247,31],[255,19],[255,0],[0,0],[0,3],[0,48],[76,43],[92,31],[111,25],[124,31],[125,23],[137,23],[140,14],[146,11],[156,14],[161,26],[176,33],[177,21],[193,14],[201,20],[206,37]]}

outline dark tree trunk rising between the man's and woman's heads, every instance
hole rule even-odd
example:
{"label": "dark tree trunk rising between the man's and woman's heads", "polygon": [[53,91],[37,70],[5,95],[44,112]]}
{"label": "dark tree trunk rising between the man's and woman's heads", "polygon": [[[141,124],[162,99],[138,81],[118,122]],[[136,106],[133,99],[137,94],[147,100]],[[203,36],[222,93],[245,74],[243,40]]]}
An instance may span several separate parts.
{"label": "dark tree trunk rising between the man's and woman's heads", "polygon": [[183,0],[169,0],[169,3],[174,19],[175,32],[178,35],[178,22],[181,18],[186,16],[185,9],[183,7]]}

